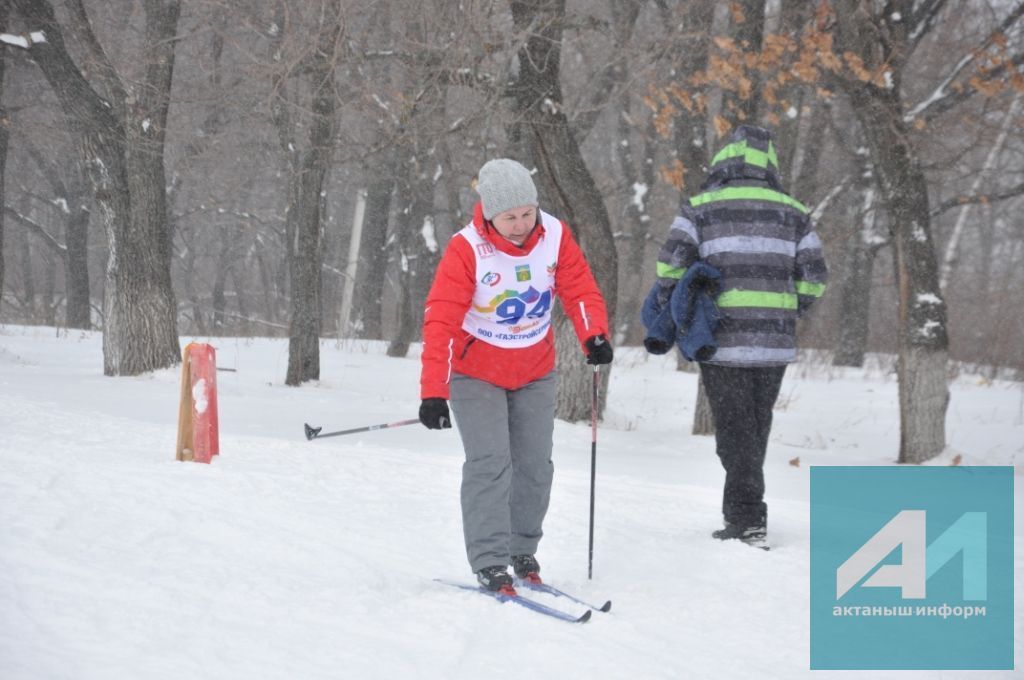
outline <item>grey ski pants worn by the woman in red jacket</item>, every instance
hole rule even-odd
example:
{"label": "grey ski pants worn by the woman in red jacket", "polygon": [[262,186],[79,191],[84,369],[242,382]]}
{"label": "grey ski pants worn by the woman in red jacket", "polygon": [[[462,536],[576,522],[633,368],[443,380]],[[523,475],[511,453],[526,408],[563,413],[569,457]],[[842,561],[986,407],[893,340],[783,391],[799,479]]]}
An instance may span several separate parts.
{"label": "grey ski pants worn by the woman in red jacket", "polygon": [[450,401],[466,452],[462,526],[473,571],[532,555],[551,498],[557,374],[519,389],[453,375]]}

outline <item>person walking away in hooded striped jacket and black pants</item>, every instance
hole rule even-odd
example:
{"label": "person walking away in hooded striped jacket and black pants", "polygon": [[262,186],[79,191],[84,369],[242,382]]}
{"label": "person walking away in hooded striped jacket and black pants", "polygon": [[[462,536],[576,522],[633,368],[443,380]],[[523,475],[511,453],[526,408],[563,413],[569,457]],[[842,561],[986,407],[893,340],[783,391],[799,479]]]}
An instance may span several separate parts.
{"label": "person walking away in hooded striped jacket and black pants", "polygon": [[[669,228],[657,257],[666,305],[696,262],[719,272],[717,350],[700,360],[725,468],[721,540],[766,547],[764,461],[772,408],[796,359],[797,320],[821,297],[827,269],[808,209],[779,181],[771,133],[740,125],[715,155],[708,179]],[[664,353],[653,338],[647,350]]]}

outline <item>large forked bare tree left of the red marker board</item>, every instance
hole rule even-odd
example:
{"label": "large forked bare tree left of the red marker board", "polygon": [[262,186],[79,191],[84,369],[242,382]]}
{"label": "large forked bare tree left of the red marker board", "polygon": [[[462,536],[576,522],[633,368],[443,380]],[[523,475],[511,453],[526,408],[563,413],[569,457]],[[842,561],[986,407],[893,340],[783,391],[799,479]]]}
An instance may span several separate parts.
{"label": "large forked bare tree left of the red marker board", "polygon": [[178,0],[145,0],[140,80],[126,88],[81,0],[69,27],[90,62],[90,84],[69,54],[48,0],[13,0],[39,65],[78,138],[110,244],[103,303],[103,373],[135,375],[179,360],[171,289],[163,147],[174,70]]}

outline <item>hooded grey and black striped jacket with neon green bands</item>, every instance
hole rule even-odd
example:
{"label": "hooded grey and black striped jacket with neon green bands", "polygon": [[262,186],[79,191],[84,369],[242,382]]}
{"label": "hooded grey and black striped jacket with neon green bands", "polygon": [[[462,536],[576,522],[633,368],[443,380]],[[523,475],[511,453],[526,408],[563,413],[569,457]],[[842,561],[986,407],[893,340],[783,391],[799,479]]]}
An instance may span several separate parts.
{"label": "hooded grey and black striped jacket with neon green bands", "polygon": [[673,221],[657,258],[664,299],[698,260],[722,272],[718,351],[709,363],[793,362],[797,318],[824,292],[827,269],[807,208],[782,190],[767,130],[738,127]]}

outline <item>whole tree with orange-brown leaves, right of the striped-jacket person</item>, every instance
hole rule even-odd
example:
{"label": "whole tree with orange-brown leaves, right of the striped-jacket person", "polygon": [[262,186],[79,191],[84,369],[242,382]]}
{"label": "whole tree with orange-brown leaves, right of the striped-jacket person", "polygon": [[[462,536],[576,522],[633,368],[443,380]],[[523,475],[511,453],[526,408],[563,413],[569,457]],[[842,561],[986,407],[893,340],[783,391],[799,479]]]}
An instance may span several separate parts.
{"label": "whole tree with orange-brown leaves, right of the striped-jacket person", "polygon": [[[1024,3],[1017,3],[996,31],[981,44],[968,46],[964,58],[940,76],[934,91],[925,92],[921,104],[907,105],[904,87],[910,82],[910,56],[938,25],[945,7],[942,1],[895,1],[882,6],[843,0],[835,3],[834,11],[831,3],[820,2],[799,41],[790,31],[766,38],[760,53],[748,53],[734,40],[717,40],[717,47],[732,58],[713,59],[707,74],[691,77],[697,82],[732,78],[739,82],[739,88],[727,83],[727,89],[742,92],[744,82],[755,82],[749,72],[756,70],[765,101],[773,100],[775,105],[775,94],[794,78],[815,88],[826,103],[837,90],[850,103],[864,133],[895,252],[902,462],[921,462],[943,450],[948,401],[946,304],[939,290],[923,137],[916,132],[975,93],[997,94],[1011,83],[1020,87],[1020,78],[1014,74],[1016,66],[1024,62],[1024,53],[1007,48],[1006,31],[1024,15]],[[937,54],[948,59],[945,47]],[[913,76],[915,89],[921,90],[926,78],[935,78],[934,68]],[[820,136],[822,121],[817,117],[825,111],[812,109],[816,120],[804,126],[808,134]],[[726,127],[716,121],[719,131]],[[813,182],[826,167],[819,163],[823,144],[818,142],[819,138],[814,138],[799,144],[803,154],[797,156],[802,156],[802,162],[791,162],[800,166],[801,177]],[[806,185],[800,188],[807,190]]]}

